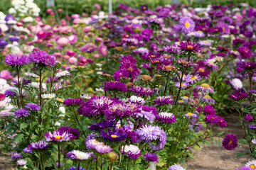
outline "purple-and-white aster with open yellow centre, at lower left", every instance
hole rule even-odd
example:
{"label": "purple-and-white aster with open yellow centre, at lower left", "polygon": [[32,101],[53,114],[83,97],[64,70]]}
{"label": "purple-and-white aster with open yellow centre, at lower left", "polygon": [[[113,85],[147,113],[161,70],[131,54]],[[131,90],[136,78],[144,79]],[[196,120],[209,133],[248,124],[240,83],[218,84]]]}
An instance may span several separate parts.
{"label": "purple-and-white aster with open yellow centre, at lower left", "polygon": [[68,141],[68,140],[72,140],[73,138],[76,138],[71,133],[67,131],[62,131],[62,130],[61,131],[54,130],[53,133],[47,132],[44,135],[47,142],[48,141],[63,142],[63,141]]}

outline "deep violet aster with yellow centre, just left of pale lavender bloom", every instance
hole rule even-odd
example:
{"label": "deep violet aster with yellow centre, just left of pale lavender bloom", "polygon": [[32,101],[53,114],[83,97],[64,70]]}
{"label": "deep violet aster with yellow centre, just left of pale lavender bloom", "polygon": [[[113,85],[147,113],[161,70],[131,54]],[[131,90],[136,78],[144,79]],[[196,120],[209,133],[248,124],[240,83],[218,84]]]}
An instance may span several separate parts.
{"label": "deep violet aster with yellow centre, just left of pale lavender bloom", "polygon": [[125,140],[127,137],[126,133],[122,133],[122,130],[117,130],[117,128],[114,128],[112,131],[108,128],[107,132],[100,130],[100,135],[102,135],[103,139],[111,140],[112,142],[114,140]]}

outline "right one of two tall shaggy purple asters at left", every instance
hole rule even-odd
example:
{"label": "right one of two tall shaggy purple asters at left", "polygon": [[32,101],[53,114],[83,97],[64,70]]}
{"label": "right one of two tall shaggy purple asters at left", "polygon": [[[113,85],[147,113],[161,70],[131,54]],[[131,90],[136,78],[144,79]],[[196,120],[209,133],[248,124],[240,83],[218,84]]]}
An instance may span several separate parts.
{"label": "right one of two tall shaggy purple asters at left", "polygon": [[55,57],[53,55],[48,55],[47,52],[41,50],[41,51],[34,51],[31,54],[28,55],[29,62],[35,62],[36,66],[38,64],[45,64],[46,66],[55,66],[56,61]]}

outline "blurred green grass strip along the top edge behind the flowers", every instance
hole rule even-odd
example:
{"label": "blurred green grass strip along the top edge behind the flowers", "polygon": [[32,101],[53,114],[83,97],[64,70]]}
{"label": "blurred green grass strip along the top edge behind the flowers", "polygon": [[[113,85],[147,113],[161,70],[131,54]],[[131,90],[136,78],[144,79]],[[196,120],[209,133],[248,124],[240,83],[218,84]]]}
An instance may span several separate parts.
{"label": "blurred green grass strip along the top edge behind the flowers", "polygon": [[[41,8],[40,15],[46,16],[46,1],[53,0],[34,0],[34,2]],[[69,15],[73,13],[88,13],[92,12],[94,4],[100,4],[102,11],[108,11],[108,0],[54,0],[56,8],[62,8]],[[256,7],[256,0],[112,0],[112,8],[115,11],[118,4],[127,4],[133,8],[139,8],[139,6],[146,4],[149,8],[153,9],[156,6],[164,6],[179,1],[181,4],[186,4],[192,7],[206,7],[208,4],[221,4],[223,6],[230,3],[239,4],[247,3],[252,7]],[[8,13],[11,8],[11,0],[0,0],[0,11]]]}

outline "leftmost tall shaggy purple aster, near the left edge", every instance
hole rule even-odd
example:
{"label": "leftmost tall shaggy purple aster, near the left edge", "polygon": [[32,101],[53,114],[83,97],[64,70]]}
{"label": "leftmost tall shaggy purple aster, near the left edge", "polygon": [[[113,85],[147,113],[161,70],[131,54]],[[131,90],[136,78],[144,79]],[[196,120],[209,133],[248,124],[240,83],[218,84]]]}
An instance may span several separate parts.
{"label": "leftmost tall shaggy purple aster, near the left edge", "polygon": [[18,65],[22,65],[22,64],[28,64],[28,57],[26,55],[7,55],[5,57],[5,60],[7,65],[11,65],[11,66],[18,66]]}

